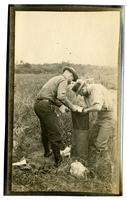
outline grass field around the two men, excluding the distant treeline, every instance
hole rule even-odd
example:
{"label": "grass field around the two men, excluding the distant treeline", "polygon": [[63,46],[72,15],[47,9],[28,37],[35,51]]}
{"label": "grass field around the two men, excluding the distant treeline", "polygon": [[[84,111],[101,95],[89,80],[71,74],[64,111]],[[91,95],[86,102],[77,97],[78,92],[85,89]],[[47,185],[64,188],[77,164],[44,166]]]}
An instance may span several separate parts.
{"label": "grass field around the two men, excluding the distant treeline", "polygon": [[[80,69],[79,74],[82,74]],[[84,71],[83,71],[84,72]],[[95,77],[96,70],[91,71]],[[105,80],[114,101],[116,120],[116,74],[109,73],[96,74],[100,77],[100,82]],[[112,194],[118,191],[118,169],[115,173],[110,168],[99,168],[99,173],[91,174],[88,180],[77,179],[70,175],[69,167],[66,170],[52,169],[53,160],[44,159],[43,147],[40,138],[39,121],[34,113],[34,99],[42,87],[42,85],[56,71],[48,71],[48,73],[19,73],[15,74],[14,87],[14,129],[13,129],[13,159],[12,162],[19,161],[25,157],[30,163],[30,169],[12,168],[12,191],[14,192],[87,192],[94,194]],[[87,74],[90,74],[88,72]],[[103,75],[105,79],[103,78]],[[114,78],[113,78],[114,76]],[[112,77],[112,78],[111,78]],[[109,84],[110,83],[110,84]],[[60,113],[59,113],[60,114]],[[71,143],[70,133],[72,133],[72,121],[70,113],[60,114],[61,132],[65,146]],[[112,127],[111,127],[112,128]],[[110,141],[110,150],[112,151],[113,143]],[[114,150],[114,149],[113,149]],[[64,164],[70,163],[70,159],[64,160]],[[115,162],[117,162],[115,160]],[[44,167],[46,166],[45,170]],[[47,167],[48,166],[48,167]],[[115,164],[112,165],[115,168]]]}

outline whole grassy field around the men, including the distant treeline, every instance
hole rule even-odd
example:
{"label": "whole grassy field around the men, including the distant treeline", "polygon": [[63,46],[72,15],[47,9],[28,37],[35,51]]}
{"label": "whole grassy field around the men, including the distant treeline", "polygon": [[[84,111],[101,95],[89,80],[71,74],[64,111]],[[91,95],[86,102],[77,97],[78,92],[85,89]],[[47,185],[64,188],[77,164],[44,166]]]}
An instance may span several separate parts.
{"label": "whole grassy field around the men, including the distant treeline", "polygon": [[[40,88],[51,77],[61,74],[65,65],[76,69],[79,77],[94,78],[96,83],[106,86],[112,95],[114,105],[114,120],[117,123],[117,69],[108,66],[75,65],[72,63],[30,64],[23,63],[15,66],[14,77],[14,123],[13,123],[13,157],[12,162],[17,162],[23,157],[32,166],[30,169],[12,168],[12,191],[14,192],[87,192],[94,194],[119,193],[118,148],[112,140],[109,141],[112,167],[104,166],[88,180],[80,180],[72,177],[69,168],[62,171],[50,169],[52,160],[43,158],[43,146],[41,144],[40,126],[33,105]],[[70,100],[74,101],[74,94],[68,93]],[[78,99],[78,103],[81,103]],[[71,144],[72,121],[70,113],[59,114],[61,133],[65,146]],[[95,118],[91,118],[90,126]],[[115,127],[115,128],[114,128]],[[111,127],[116,134],[116,126]],[[117,137],[116,137],[117,138]],[[113,154],[114,155],[114,154]],[[66,159],[65,163],[69,163]],[[102,163],[103,159],[102,159]],[[43,171],[44,164],[48,165],[48,171]],[[98,173],[99,172],[99,173]]]}

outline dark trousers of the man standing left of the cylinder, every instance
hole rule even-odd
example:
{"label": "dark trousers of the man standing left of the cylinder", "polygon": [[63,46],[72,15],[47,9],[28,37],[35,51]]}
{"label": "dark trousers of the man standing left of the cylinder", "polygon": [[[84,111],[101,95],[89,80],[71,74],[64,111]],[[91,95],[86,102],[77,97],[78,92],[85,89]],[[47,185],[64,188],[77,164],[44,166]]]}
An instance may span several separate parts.
{"label": "dark trousers of the man standing left of the cylinder", "polygon": [[45,153],[50,151],[50,143],[55,162],[58,163],[61,160],[61,134],[59,120],[54,111],[54,105],[49,100],[37,100],[34,105],[34,110],[40,120],[44,151]]}

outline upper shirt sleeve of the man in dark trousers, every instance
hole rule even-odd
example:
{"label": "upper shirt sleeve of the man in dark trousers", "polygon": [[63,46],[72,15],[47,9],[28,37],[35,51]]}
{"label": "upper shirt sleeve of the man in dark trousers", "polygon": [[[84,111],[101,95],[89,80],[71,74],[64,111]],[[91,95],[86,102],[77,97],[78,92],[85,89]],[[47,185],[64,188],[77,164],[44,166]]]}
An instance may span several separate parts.
{"label": "upper shirt sleeve of the man in dark trousers", "polygon": [[66,99],[67,86],[68,86],[67,80],[62,81],[59,84],[58,89],[57,89],[57,99],[61,101]]}

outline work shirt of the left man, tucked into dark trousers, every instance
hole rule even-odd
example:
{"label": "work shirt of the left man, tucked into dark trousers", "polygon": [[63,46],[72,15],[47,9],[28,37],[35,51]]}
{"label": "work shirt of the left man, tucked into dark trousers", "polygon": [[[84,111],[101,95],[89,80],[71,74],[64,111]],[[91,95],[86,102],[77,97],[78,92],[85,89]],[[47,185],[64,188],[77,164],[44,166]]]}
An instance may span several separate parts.
{"label": "work shirt of the left man, tucked into dark trousers", "polygon": [[64,103],[72,108],[73,105],[66,97],[67,86],[68,80],[63,75],[55,76],[42,87],[37,99],[49,99],[56,106],[61,106]]}

